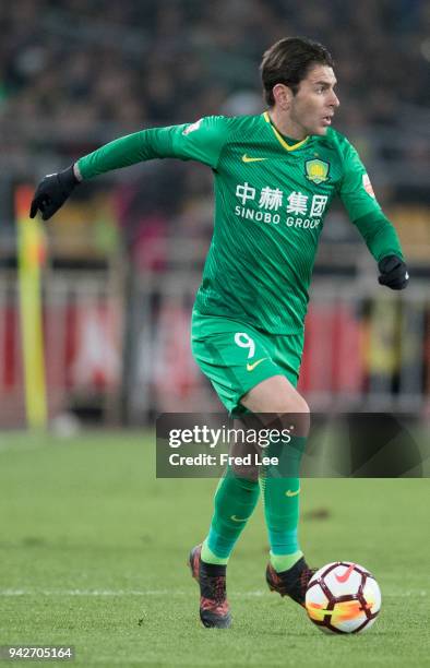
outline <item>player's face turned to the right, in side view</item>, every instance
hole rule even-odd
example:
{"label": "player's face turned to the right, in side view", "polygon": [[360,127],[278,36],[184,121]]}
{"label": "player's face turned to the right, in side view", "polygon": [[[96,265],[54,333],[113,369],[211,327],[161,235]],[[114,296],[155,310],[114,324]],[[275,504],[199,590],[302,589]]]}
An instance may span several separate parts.
{"label": "player's face turned to the right, in side view", "polygon": [[307,134],[325,134],[339,106],[334,87],[336,77],[327,65],[314,65],[302,79],[290,100],[290,120]]}

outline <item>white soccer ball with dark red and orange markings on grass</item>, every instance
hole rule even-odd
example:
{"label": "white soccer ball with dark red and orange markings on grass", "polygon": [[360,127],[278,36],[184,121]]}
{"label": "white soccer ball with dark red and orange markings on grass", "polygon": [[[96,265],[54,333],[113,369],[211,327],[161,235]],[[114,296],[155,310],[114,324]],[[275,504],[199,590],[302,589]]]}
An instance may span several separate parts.
{"label": "white soccer ball with dark red and orange markings on grass", "polygon": [[322,631],[358,633],[374,623],[381,609],[381,591],[363,566],[334,561],[309,581],[304,606],[309,619]]}

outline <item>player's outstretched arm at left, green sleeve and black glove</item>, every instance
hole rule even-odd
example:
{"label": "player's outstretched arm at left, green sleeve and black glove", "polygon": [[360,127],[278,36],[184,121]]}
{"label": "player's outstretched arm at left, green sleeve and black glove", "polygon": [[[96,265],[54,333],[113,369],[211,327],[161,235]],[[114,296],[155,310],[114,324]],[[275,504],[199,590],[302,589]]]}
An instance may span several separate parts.
{"label": "player's outstretched arm at left, green sleeve and black glove", "polygon": [[142,130],[105,144],[67,169],[46,176],[37,187],[29,215],[34,218],[39,211],[43,219],[48,220],[81,181],[143,160],[194,159],[216,169],[230,121],[227,117],[211,116],[195,123]]}

